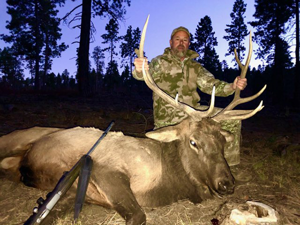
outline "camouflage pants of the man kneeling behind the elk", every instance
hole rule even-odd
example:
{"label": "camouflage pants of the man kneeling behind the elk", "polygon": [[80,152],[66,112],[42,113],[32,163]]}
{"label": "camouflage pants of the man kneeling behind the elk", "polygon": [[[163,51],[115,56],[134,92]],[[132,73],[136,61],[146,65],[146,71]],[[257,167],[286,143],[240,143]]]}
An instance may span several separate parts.
{"label": "camouflage pants of the man kneeling behind the elk", "polygon": [[[206,110],[207,106],[200,105],[198,109]],[[214,107],[213,113],[216,114],[222,110],[222,108]],[[231,132],[234,135],[234,140],[227,142],[224,147],[224,157],[229,166],[236,165],[239,163],[239,145],[240,145],[240,130],[241,130],[241,120],[222,120],[221,128]],[[174,125],[176,122],[154,122],[154,129]]]}

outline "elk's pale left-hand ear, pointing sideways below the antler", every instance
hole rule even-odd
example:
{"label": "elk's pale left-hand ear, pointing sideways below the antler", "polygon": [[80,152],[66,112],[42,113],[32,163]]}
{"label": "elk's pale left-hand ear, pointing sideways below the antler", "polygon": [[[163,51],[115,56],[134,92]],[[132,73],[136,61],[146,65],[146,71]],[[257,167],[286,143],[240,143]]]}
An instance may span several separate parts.
{"label": "elk's pale left-hand ear, pointing sideways below the antler", "polygon": [[179,135],[175,126],[165,126],[146,132],[146,137],[162,142],[170,142],[179,139]]}

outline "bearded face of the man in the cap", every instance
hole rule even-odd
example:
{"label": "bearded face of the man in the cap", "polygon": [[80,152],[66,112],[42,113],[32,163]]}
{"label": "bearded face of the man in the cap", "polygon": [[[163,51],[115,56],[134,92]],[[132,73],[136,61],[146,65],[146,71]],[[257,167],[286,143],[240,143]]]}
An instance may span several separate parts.
{"label": "bearded face of the man in the cap", "polygon": [[182,30],[175,32],[175,34],[170,39],[171,50],[179,58],[185,56],[189,44],[189,36]]}

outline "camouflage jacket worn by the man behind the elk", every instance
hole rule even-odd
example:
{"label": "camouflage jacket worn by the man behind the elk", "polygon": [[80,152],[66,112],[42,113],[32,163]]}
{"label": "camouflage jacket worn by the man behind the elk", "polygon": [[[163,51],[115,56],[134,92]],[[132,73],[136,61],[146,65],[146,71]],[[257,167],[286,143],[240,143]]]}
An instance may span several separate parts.
{"label": "camouflage jacket worn by the man behind the elk", "polygon": [[[229,83],[215,79],[199,62],[193,60],[198,56],[198,53],[188,49],[185,59],[180,61],[167,47],[162,55],[153,58],[149,63],[149,72],[159,88],[172,97],[178,93],[180,102],[194,108],[200,108],[197,87],[202,92],[211,94],[215,85],[216,96],[228,96],[234,92],[229,90]],[[138,77],[141,74],[137,76],[135,70],[132,74],[134,78],[143,80]],[[186,117],[182,111],[175,109],[155,93],[153,93],[153,116],[156,127],[175,124]]]}

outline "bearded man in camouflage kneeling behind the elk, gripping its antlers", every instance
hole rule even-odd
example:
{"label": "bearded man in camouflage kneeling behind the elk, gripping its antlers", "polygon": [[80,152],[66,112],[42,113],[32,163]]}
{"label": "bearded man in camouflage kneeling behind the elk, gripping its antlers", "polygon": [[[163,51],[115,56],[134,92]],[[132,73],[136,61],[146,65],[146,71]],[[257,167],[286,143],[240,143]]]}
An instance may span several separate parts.
{"label": "bearded man in camouflage kneeling behind the elk, gripping its antlers", "polygon": [[[233,83],[227,83],[215,79],[199,62],[193,60],[199,56],[198,53],[188,49],[190,44],[190,33],[187,28],[179,26],[171,33],[170,47],[164,49],[162,55],[153,58],[145,69],[149,69],[155,83],[166,93],[178,100],[197,109],[205,109],[198,102],[200,97],[196,91],[198,87],[202,92],[211,94],[213,85],[216,96],[228,96],[238,87],[244,89],[247,85],[246,78],[237,76]],[[142,80],[141,58],[134,59],[135,69],[132,72],[134,78]],[[147,60],[146,60],[147,61]],[[173,125],[180,122],[186,115],[166,103],[163,99],[153,93],[153,116],[154,128]],[[227,143],[224,154],[229,166],[239,163],[239,139],[241,122],[238,120],[224,120],[222,128],[234,134],[234,141]],[[232,168],[232,167],[231,167]],[[235,170],[235,168],[234,168]],[[233,168],[231,169],[233,171]],[[248,180],[247,174],[238,172],[233,174],[235,179]]]}

